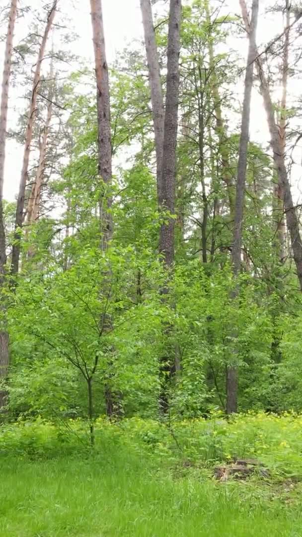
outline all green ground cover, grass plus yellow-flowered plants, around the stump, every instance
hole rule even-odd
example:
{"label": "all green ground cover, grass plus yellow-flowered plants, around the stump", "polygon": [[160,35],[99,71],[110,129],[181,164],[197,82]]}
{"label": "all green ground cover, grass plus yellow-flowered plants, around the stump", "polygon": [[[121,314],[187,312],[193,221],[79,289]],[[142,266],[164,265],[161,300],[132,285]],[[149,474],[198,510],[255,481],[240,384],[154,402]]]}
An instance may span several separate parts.
{"label": "all green ground cover, grass plus yellow-flowered plants, around the stump", "polygon": [[[0,427],[0,537],[301,537],[302,416]],[[175,438],[177,442],[175,442]],[[259,478],[213,466],[255,456]]]}

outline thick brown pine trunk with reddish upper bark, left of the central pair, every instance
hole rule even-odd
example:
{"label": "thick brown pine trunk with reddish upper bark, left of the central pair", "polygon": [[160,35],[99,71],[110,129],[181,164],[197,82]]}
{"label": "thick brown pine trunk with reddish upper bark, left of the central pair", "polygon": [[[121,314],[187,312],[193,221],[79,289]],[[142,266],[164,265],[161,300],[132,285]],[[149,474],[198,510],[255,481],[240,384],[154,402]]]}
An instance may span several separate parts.
{"label": "thick brown pine trunk with reddish upper bark, left of the central pair", "polygon": [[[101,0],[90,0],[91,22],[93,32],[93,47],[95,59],[95,75],[97,78],[97,108],[98,108],[98,171],[101,178],[101,193],[99,198],[100,211],[100,249],[106,251],[113,236],[113,220],[111,214],[112,207],[112,143],[111,143],[111,120],[110,120],[110,98],[109,98],[109,77],[106,61],[104,24],[102,17]],[[110,302],[111,272],[103,274],[104,284],[102,294],[106,296],[107,303]],[[106,333],[112,330],[112,317],[107,311],[101,316],[100,324],[102,331]],[[111,351],[109,350],[109,353]],[[112,358],[108,360],[108,383],[105,387],[105,401],[107,415],[111,417],[118,404],[119,395],[114,394],[110,386],[113,377]]]}

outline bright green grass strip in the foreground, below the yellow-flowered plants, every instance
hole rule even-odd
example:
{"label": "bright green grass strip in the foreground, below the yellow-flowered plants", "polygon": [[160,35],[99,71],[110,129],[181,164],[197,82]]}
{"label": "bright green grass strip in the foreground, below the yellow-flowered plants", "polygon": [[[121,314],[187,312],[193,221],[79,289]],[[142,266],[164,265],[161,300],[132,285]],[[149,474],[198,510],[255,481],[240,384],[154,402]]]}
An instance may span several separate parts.
{"label": "bright green grass strip in the foreground, below the yellow-flowered plants", "polygon": [[301,536],[297,496],[286,502],[269,487],[215,483],[126,451],[2,458],[0,475],[1,537]]}

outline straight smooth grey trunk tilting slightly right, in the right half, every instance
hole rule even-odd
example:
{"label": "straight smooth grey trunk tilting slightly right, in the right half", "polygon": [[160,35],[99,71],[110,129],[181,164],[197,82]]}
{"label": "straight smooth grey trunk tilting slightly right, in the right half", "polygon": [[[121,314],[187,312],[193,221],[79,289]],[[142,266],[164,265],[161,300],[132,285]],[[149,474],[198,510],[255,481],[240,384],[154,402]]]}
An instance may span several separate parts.
{"label": "straight smooth grey trunk tilting slightly right, in the right half", "polygon": [[[242,108],[241,133],[239,143],[238,175],[236,186],[236,200],[234,213],[234,230],[233,230],[233,247],[232,262],[234,277],[240,272],[241,268],[241,249],[242,249],[242,224],[244,218],[244,199],[247,169],[247,150],[249,141],[249,119],[251,115],[251,97],[253,88],[254,62],[256,59],[255,47],[253,45],[256,39],[256,28],[258,19],[259,0],[253,0],[252,4],[252,21],[249,30],[249,46],[247,56],[247,67],[245,76],[244,104]],[[234,298],[237,292],[234,293]],[[238,371],[237,371],[237,351],[232,357],[233,364],[227,367],[226,375],[226,412],[228,414],[237,412],[238,398]]]}

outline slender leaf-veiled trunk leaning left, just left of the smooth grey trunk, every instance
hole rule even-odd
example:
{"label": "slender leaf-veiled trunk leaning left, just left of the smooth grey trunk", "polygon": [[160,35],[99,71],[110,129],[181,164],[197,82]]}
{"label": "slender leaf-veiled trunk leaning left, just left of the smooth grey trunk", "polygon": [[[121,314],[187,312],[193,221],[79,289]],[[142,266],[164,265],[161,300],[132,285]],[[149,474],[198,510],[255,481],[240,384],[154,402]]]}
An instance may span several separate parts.
{"label": "slender leaf-veiled trunk leaning left, just left of the smooth grey trunk", "polygon": [[[207,24],[208,27],[211,28],[211,15],[210,15],[210,9],[209,9],[209,3],[208,0],[205,2],[205,13],[207,17]],[[230,173],[230,163],[229,163],[229,151],[227,150],[226,146],[226,136],[225,136],[225,126],[223,122],[223,116],[222,116],[222,99],[219,95],[218,90],[218,80],[215,70],[215,60],[214,60],[214,49],[213,49],[213,41],[210,38],[208,39],[208,50],[209,50],[209,68],[211,71],[211,88],[212,88],[212,96],[213,96],[213,103],[214,103],[214,111],[215,111],[215,118],[216,118],[216,135],[218,137],[219,142],[219,153],[221,157],[221,165],[222,165],[222,180],[223,183],[226,185],[227,190],[227,197],[229,200],[229,208],[230,208],[230,219],[231,221],[234,220],[234,210],[235,210],[235,189],[232,182],[232,176]]]}

